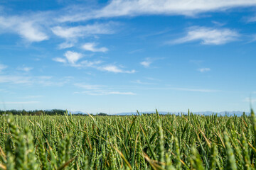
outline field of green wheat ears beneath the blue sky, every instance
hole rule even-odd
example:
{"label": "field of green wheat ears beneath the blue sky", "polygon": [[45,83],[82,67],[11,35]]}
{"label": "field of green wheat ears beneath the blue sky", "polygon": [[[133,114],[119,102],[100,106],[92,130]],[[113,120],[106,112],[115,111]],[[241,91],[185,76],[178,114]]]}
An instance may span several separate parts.
{"label": "field of green wheat ears beneath the blue sky", "polygon": [[251,115],[0,116],[0,169],[255,169]]}

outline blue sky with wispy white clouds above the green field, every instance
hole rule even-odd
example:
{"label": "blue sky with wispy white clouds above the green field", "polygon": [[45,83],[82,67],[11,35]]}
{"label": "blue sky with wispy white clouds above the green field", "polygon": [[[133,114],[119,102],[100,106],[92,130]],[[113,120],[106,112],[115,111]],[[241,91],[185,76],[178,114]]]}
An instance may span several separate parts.
{"label": "blue sky with wispy white clouds above the green field", "polygon": [[256,1],[0,2],[0,109],[249,111]]}

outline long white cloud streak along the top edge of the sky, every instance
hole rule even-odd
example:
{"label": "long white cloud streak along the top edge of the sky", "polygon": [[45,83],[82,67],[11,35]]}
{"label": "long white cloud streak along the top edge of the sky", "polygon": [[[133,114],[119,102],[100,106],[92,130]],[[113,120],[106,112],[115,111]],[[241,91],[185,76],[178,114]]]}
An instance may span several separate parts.
{"label": "long white cloud streak along the top edge of the sky", "polygon": [[[60,21],[85,21],[93,18],[141,15],[185,15],[194,16],[207,11],[225,11],[229,8],[256,6],[255,0],[112,0],[100,10],[75,10],[64,15]],[[86,11],[86,12],[85,12]]]}

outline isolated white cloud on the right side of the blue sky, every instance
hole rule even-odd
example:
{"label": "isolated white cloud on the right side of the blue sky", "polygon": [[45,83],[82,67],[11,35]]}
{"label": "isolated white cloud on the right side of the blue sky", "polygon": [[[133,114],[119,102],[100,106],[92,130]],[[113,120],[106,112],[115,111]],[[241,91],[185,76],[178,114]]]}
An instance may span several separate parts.
{"label": "isolated white cloud on the right side of the blue sky", "polygon": [[206,27],[191,27],[188,28],[188,33],[185,37],[174,40],[171,43],[183,43],[191,41],[201,41],[203,45],[222,45],[231,41],[237,40],[239,34],[235,30],[227,28],[206,28]]}

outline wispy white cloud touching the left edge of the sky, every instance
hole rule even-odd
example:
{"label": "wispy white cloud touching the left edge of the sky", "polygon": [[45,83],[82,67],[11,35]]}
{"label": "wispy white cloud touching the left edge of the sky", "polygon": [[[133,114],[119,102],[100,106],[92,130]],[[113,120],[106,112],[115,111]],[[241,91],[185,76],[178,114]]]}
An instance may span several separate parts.
{"label": "wispy white cloud touching the left edge of the sky", "polygon": [[28,42],[48,40],[48,35],[43,33],[41,24],[24,16],[0,16],[0,30],[17,33]]}

